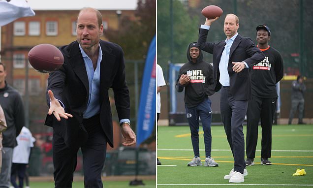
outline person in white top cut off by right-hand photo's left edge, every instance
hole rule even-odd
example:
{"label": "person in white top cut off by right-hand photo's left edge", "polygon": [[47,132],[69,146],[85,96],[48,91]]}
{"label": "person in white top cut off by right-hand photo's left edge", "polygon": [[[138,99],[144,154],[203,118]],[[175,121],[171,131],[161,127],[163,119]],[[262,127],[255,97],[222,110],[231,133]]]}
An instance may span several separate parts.
{"label": "person in white top cut off by right-hand photo's left edge", "polygon": [[[158,118],[160,116],[161,113],[161,95],[160,95],[160,91],[162,89],[163,86],[165,86],[165,80],[164,80],[164,76],[163,76],[163,70],[162,67],[158,64],[156,64],[156,122],[158,122]],[[156,158],[156,164],[157,165],[161,165],[161,162],[158,160],[158,158]]]}

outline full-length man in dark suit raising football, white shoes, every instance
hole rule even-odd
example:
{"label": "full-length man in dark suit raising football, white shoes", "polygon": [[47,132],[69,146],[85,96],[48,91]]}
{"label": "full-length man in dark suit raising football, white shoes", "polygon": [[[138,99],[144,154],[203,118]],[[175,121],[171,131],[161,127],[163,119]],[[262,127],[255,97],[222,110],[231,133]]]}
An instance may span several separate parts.
{"label": "full-length man in dark suit raising football, white shoes", "polygon": [[239,19],[227,14],[224,21],[226,40],[218,43],[206,42],[211,24],[219,19],[206,19],[199,31],[198,46],[213,54],[214,88],[220,94],[220,113],[234,157],[234,169],[224,176],[229,183],[244,182],[248,175],[245,163],[245,140],[243,122],[251,98],[249,68],[264,59],[264,54],[252,40],[238,34]]}

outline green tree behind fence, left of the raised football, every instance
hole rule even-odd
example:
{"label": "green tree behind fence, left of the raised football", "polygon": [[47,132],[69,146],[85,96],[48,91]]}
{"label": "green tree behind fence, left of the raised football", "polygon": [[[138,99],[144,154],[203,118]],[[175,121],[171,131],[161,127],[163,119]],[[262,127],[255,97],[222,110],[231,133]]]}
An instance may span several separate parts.
{"label": "green tree behind fence, left of the raised football", "polygon": [[[188,44],[198,39],[198,16],[190,16],[188,7],[179,0],[173,0],[173,36],[170,35],[170,0],[157,0],[157,63],[167,71],[167,62],[186,63]],[[171,49],[173,37],[173,49]]]}

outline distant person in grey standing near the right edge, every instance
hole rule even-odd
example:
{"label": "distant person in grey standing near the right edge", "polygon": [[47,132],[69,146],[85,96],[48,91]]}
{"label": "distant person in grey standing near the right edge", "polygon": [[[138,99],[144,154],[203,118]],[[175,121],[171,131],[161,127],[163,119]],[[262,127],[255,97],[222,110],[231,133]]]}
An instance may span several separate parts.
{"label": "distant person in grey standing near the right edge", "polygon": [[297,111],[299,106],[299,121],[298,124],[305,124],[303,122],[303,110],[304,110],[304,92],[307,90],[306,85],[303,83],[303,77],[299,75],[297,80],[292,82],[291,90],[291,109],[289,114],[288,125],[291,124],[293,114]]}

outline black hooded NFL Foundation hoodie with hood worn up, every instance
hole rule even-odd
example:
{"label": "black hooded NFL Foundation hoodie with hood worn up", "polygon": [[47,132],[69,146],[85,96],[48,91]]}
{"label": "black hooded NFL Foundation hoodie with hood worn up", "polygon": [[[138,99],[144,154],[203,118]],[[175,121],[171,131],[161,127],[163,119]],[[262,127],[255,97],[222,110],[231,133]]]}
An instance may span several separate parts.
{"label": "black hooded NFL Foundation hoodie with hood worn up", "polygon": [[[213,66],[210,63],[203,61],[203,54],[200,49],[196,63],[193,63],[189,54],[189,49],[192,47],[198,48],[197,43],[192,42],[188,45],[188,63],[185,63],[180,68],[176,82],[176,90],[178,92],[183,92],[185,87],[185,103],[188,108],[197,106],[209,95],[215,93],[213,88]],[[182,74],[187,74],[190,77],[190,82],[188,84],[181,85],[179,83],[179,78]]]}

